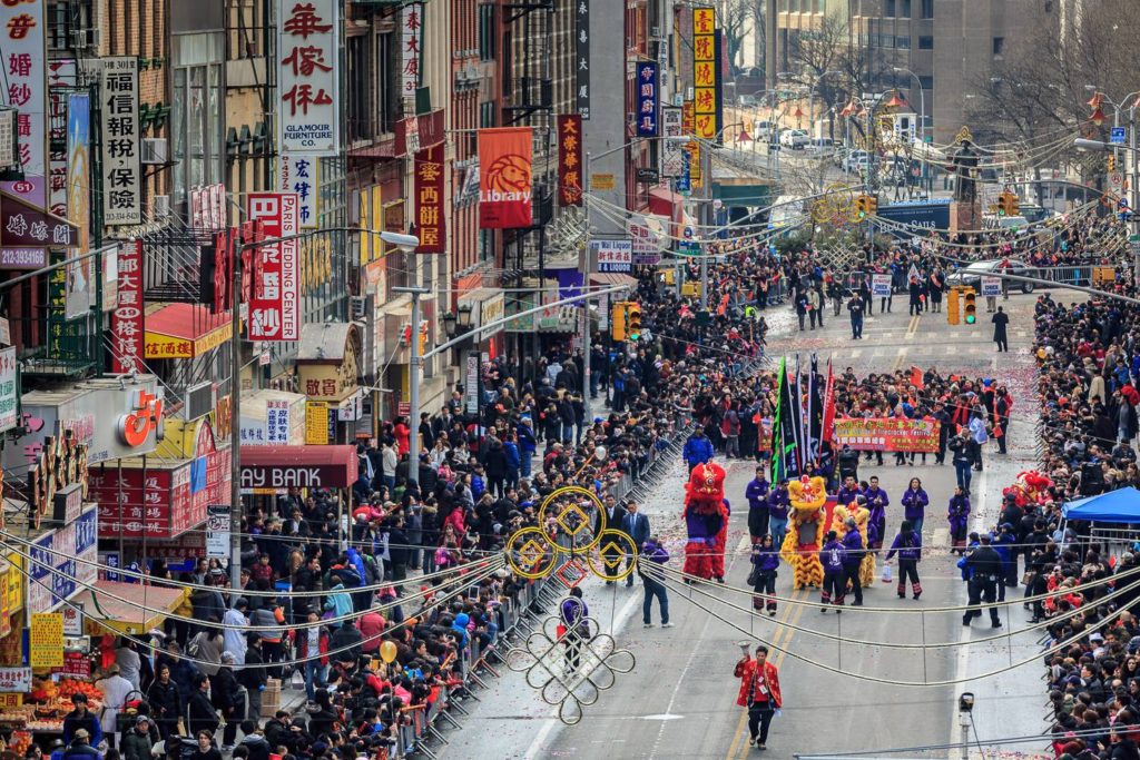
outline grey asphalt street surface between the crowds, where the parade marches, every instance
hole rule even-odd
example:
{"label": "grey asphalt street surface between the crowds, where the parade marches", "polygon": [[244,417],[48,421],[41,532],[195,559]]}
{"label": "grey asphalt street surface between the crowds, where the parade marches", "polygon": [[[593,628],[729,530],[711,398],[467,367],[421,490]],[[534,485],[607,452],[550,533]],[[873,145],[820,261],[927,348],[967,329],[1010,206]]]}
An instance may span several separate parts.
{"label": "grey asphalt street surface between the crowds, where the parade marches", "polygon": [[[1015,399],[1028,399],[1033,361],[1026,348],[1032,335],[1033,296],[1015,295],[1003,302],[1010,312],[1011,352],[996,354],[990,341],[991,326],[980,314],[980,324],[950,326],[945,314],[923,313],[909,317],[905,297],[896,296],[893,313],[877,311],[864,328],[864,341],[849,341],[846,318],[828,319],[823,330],[789,332],[790,314],[781,307],[773,321],[769,338],[771,357],[799,352],[816,352],[822,362],[828,357],[837,371],[854,367],[861,376],[893,368],[936,367],[943,371],[962,370],[970,376],[996,377],[1010,385]],[[1021,409],[1029,404],[1021,404]],[[1001,488],[1032,463],[1034,427],[1018,419],[1010,431],[1010,455],[997,457],[986,450],[986,467],[975,480],[975,528],[992,528],[1001,500]],[[921,463],[921,459],[919,459]],[[893,455],[885,456],[885,466],[871,467],[865,459],[860,476],[880,477],[891,497],[887,509],[890,537],[898,528],[898,495],[911,476],[922,479],[930,493],[923,541],[929,546],[919,565],[923,595],[920,602],[898,599],[894,585],[877,580],[865,594],[869,607],[914,610],[961,605],[966,588],[956,557],[950,557],[945,504],[953,491],[953,469],[946,465],[918,464],[896,467]],[[670,566],[679,567],[683,526],[678,524],[682,508],[682,465],[670,473],[653,492],[644,507],[654,530],[668,536],[674,557]],[[727,467],[726,496],[733,514],[728,537],[730,564],[727,583],[743,587],[748,575],[747,501],[744,487],[754,474],[752,465],[733,461]],[[978,480],[980,477],[980,481]],[[889,545],[889,538],[888,538]],[[896,565],[897,566],[897,565]],[[879,565],[881,569],[881,564]],[[878,573],[877,573],[878,574]],[[791,590],[791,573],[782,565],[777,595],[817,598],[819,591]],[[591,580],[585,585],[591,614],[603,630],[613,630],[620,646],[637,657],[633,673],[619,676],[617,685],[603,692],[597,704],[586,708],[583,722],[565,728],[551,719],[547,709],[521,681],[521,677],[502,669],[502,679],[480,694],[483,700],[465,721],[463,737],[447,747],[447,758],[465,757],[464,749],[484,747],[489,755],[504,758],[744,758],[759,752],[748,745],[744,711],[735,706],[739,681],[732,677],[740,657],[736,643],[763,640],[773,647],[772,661],[780,667],[784,698],[783,714],[773,721],[768,757],[790,758],[793,754],[828,754],[886,747],[956,742],[960,737],[955,709],[958,694],[972,692],[977,697],[975,724],[977,735],[990,750],[991,739],[1040,730],[1041,690],[1037,660],[1001,677],[974,680],[968,686],[901,687],[863,680],[869,676],[901,681],[944,681],[972,677],[1007,668],[1040,652],[1027,634],[999,639],[968,648],[887,649],[882,647],[840,644],[819,634],[846,639],[926,644],[985,638],[993,634],[988,624],[975,621],[972,629],[961,626],[961,614],[938,612],[899,616],[848,608],[841,616],[821,614],[816,608],[781,605],[775,619],[752,618],[702,597],[692,587],[685,591],[670,589],[673,629],[641,627],[642,593],[634,589],[605,587]],[[1011,590],[1020,595],[1023,589]],[[715,596],[747,606],[749,597],[725,590]],[[689,597],[710,606],[725,620],[717,620],[686,600]],[[654,606],[654,622],[659,622]],[[1004,615],[1002,632],[1023,627],[1028,613],[1013,605]],[[738,630],[733,626],[740,627]],[[795,630],[795,627],[806,630]],[[787,649],[790,654],[780,652]],[[807,660],[819,663],[808,664]],[[841,670],[838,675],[832,670]],[[486,696],[483,696],[486,694]],[[1017,727],[1016,729],[1011,728]],[[1019,752],[1041,750],[1036,745],[1010,747]],[[922,757],[960,757],[955,751],[934,752]]]}

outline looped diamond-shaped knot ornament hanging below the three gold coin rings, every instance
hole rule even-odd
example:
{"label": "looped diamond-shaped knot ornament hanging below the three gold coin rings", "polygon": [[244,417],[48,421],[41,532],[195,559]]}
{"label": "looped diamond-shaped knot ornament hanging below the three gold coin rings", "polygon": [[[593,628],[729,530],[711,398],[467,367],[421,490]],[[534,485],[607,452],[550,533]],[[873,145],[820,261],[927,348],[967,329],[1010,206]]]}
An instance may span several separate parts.
{"label": "looped diamond-shaped knot ornament hanging below the three gold coin rings", "polygon": [[521,647],[506,652],[507,668],[526,673],[527,685],[546,704],[559,705],[559,720],[567,726],[579,724],[585,708],[617,683],[618,673],[628,673],[636,664],[633,653],[619,649],[591,618],[569,629],[557,616],[547,618]]}

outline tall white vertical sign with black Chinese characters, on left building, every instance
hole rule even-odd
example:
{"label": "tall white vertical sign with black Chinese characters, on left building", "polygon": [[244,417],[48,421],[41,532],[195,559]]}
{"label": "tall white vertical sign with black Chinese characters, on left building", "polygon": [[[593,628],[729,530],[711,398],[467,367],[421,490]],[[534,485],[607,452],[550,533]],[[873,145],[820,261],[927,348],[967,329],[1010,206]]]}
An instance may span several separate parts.
{"label": "tall white vertical sign with black Chinese characters, on left building", "polygon": [[139,156],[139,63],[103,59],[103,219],[108,226],[142,222]]}

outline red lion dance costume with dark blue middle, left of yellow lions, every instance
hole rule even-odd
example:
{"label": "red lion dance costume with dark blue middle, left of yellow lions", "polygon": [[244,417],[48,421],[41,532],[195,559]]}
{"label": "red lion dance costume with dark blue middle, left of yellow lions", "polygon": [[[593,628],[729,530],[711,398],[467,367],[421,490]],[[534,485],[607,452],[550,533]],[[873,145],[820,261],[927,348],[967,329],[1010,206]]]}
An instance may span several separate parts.
{"label": "red lion dance costume with dark blue middle, left of yellow lions", "polygon": [[724,498],[724,468],[706,463],[693,467],[685,484],[685,573],[705,580],[724,580],[724,550],[728,538],[728,502]]}

